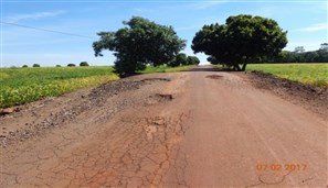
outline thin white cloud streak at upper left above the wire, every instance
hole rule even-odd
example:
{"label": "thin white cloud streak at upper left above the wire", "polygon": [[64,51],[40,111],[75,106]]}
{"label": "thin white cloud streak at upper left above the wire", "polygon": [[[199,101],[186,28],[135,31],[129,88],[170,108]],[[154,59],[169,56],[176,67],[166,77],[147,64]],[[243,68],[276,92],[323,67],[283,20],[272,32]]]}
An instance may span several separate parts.
{"label": "thin white cloud streak at upper left above the wire", "polygon": [[17,14],[17,15],[10,15],[6,18],[6,22],[17,23],[22,20],[38,20],[38,19],[44,19],[44,18],[51,18],[51,16],[57,16],[60,14],[65,13],[66,11],[52,11],[52,12],[35,12],[30,14]]}

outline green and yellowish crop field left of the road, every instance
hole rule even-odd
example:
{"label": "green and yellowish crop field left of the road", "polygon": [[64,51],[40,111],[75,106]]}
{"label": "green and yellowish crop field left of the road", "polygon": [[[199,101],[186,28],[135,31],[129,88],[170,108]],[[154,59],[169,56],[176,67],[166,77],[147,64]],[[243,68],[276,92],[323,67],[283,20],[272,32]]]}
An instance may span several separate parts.
{"label": "green and yellowish crop field left of the road", "polygon": [[0,108],[55,97],[118,79],[113,67],[0,69]]}

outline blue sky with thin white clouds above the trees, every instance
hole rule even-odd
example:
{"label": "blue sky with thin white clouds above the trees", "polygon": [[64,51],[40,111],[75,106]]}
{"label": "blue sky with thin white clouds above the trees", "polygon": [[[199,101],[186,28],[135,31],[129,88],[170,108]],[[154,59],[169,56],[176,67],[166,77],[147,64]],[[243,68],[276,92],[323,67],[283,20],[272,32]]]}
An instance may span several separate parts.
{"label": "blue sky with thin white clouds above the trees", "polygon": [[[113,65],[105,52],[95,57],[92,47],[100,31],[117,31],[134,15],[172,25],[187,40],[184,53],[204,24],[224,24],[230,15],[252,14],[274,19],[288,31],[287,51],[304,46],[316,51],[328,42],[327,0],[0,0],[1,67],[66,66],[88,62]],[[22,27],[28,26],[28,27]],[[34,30],[36,27],[41,30]],[[57,33],[49,32],[56,31]],[[204,54],[195,54],[208,64]]]}

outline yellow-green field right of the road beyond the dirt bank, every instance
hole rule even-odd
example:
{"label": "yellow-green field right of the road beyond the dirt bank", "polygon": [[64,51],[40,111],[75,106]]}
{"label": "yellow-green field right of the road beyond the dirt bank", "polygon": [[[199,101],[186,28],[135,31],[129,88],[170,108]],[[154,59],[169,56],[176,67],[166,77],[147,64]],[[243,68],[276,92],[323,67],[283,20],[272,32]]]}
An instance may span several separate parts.
{"label": "yellow-green field right of the road beyond the dirt bank", "polygon": [[303,84],[328,88],[328,64],[250,64],[247,70],[261,70]]}

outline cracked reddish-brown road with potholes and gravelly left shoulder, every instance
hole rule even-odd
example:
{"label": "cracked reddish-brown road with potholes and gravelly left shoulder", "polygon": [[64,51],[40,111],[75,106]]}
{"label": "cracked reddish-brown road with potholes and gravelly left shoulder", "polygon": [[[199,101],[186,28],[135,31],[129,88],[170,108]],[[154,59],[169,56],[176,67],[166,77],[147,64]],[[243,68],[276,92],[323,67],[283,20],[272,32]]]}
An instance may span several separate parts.
{"label": "cracked reddish-brown road with potholes and gravelly left shoulder", "polygon": [[0,187],[327,187],[327,121],[199,68],[1,118]]}

